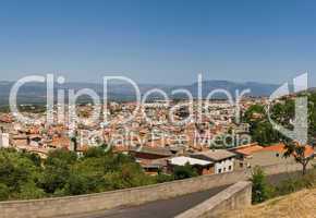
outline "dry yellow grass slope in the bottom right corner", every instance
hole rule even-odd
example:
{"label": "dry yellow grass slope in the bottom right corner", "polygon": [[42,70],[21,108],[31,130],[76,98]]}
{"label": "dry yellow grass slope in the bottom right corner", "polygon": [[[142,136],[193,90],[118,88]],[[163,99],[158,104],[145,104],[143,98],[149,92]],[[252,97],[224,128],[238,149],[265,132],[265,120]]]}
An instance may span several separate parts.
{"label": "dry yellow grass slope in the bottom right corner", "polygon": [[221,218],[315,218],[316,189],[303,190],[287,196],[270,199],[246,209],[234,210]]}

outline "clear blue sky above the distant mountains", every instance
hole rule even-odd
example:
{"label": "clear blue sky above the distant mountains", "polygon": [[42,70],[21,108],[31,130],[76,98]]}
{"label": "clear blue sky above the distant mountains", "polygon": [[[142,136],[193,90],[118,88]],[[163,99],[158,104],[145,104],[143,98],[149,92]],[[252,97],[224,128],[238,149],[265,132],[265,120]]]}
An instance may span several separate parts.
{"label": "clear blue sky above the distant mountains", "polygon": [[98,82],[205,80],[316,86],[316,2],[0,1],[0,80],[57,73]]}

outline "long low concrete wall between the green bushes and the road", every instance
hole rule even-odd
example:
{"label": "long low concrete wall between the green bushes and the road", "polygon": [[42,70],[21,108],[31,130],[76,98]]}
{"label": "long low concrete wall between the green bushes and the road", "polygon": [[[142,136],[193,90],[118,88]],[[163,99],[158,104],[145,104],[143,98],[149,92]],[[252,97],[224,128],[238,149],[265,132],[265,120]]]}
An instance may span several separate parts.
{"label": "long low concrete wall between the green bushes and the road", "polygon": [[[299,165],[269,166],[265,168],[268,174],[297,170],[301,170],[301,166]],[[211,187],[233,184],[239,181],[247,180],[250,175],[250,170],[234,171],[98,194],[35,201],[2,202],[0,203],[0,218],[54,217],[109,209],[123,205],[138,205],[146,202],[170,198]]]}

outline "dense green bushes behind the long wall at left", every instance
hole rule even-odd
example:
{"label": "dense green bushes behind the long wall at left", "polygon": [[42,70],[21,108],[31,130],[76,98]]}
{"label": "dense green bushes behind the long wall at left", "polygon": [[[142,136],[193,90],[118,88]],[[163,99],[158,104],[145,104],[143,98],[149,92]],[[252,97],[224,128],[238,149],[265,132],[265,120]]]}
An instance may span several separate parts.
{"label": "dense green bushes behind the long wall at left", "polygon": [[37,155],[0,149],[0,201],[66,196],[135,187],[197,175],[191,166],[173,174],[147,175],[134,158],[89,148],[83,157],[56,149],[41,160]]}

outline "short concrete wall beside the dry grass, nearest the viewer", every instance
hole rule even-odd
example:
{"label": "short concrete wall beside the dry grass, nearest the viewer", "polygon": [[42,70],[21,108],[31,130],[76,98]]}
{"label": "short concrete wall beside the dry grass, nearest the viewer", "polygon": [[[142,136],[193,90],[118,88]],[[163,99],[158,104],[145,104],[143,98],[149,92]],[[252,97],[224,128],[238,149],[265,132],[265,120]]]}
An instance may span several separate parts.
{"label": "short concrete wall beside the dry grass, nearest the viewer", "polygon": [[252,183],[238,182],[175,218],[216,218],[220,214],[251,206]]}

